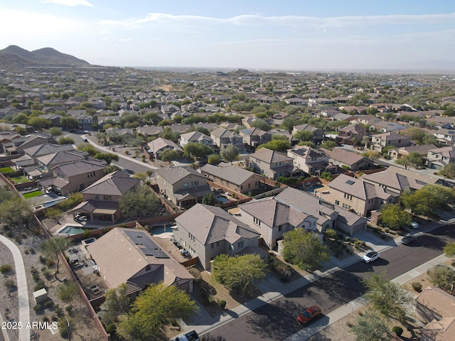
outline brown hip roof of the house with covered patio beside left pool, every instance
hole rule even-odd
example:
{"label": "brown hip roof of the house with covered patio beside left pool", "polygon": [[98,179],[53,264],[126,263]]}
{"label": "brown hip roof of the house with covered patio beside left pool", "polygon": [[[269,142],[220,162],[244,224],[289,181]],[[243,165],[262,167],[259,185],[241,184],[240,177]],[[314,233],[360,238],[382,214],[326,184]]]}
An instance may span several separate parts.
{"label": "brown hip roof of the house with covered patio beside left pool", "polygon": [[100,194],[100,195],[124,195],[132,188],[139,185],[141,180],[130,178],[128,174],[122,171],[115,171],[105,175],[103,178],[89,187],[82,190],[82,195],[87,194]]}

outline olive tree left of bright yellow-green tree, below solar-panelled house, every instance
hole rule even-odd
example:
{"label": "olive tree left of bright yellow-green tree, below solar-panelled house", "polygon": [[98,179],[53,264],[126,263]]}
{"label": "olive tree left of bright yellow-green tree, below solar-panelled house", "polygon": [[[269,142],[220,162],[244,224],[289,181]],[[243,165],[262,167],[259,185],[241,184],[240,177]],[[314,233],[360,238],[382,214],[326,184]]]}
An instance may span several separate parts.
{"label": "olive tree left of bright yellow-green tree, below solar-panelled house", "polygon": [[127,283],[122,283],[116,289],[110,289],[105,295],[105,301],[100,305],[97,314],[105,325],[116,323],[119,315],[129,312],[129,297],[127,296]]}

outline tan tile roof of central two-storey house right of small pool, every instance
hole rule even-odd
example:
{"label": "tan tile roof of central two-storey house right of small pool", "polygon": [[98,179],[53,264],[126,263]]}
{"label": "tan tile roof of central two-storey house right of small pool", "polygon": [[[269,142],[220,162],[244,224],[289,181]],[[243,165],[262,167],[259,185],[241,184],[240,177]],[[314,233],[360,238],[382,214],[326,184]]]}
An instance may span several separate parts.
{"label": "tan tile roof of central two-storey house right of small pool", "polygon": [[221,240],[232,244],[240,238],[259,237],[259,233],[247,224],[215,206],[196,204],[176,217],[176,222],[203,245]]}

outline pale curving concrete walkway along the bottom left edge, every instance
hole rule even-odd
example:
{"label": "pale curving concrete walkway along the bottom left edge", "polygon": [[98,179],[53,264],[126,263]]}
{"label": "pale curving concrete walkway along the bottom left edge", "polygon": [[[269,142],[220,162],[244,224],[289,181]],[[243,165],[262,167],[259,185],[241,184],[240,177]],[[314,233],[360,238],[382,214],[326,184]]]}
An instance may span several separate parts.
{"label": "pale curving concrete walkway along the bottom left edge", "polygon": [[28,303],[28,287],[25,266],[21,250],[18,249],[14,242],[0,234],[0,242],[8,247],[14,258],[14,269],[16,271],[17,296],[19,299],[19,320],[23,328],[19,330],[19,340],[30,340],[30,328],[26,325],[30,323],[30,303]]}

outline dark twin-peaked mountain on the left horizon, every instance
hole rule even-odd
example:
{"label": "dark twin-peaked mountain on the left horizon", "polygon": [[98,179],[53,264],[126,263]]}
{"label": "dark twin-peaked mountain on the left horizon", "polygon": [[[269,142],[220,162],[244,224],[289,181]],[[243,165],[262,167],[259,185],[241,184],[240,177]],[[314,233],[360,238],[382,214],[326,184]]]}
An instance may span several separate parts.
{"label": "dark twin-peaked mountain on the left horizon", "polygon": [[0,68],[22,68],[27,66],[91,66],[85,60],[58,52],[53,48],[40,48],[32,52],[16,45],[0,50]]}

